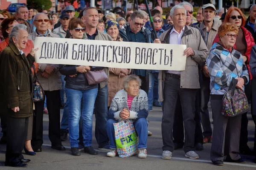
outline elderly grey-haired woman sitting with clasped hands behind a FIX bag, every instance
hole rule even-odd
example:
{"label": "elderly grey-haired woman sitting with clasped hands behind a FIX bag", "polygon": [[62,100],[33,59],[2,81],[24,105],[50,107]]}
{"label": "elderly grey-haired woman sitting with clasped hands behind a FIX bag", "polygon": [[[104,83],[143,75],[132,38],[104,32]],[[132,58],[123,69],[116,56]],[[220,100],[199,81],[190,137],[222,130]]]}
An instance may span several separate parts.
{"label": "elderly grey-haired woman sitting with clasped hands behind a FIX bag", "polygon": [[117,155],[115,130],[113,123],[119,119],[132,119],[134,127],[139,136],[139,158],[147,157],[147,139],[148,139],[148,97],[145,91],[140,90],[141,79],[135,75],[125,77],[123,81],[123,90],[120,90],[114,96],[110,109],[108,111],[107,132],[110,140],[110,148],[107,153],[109,157]]}

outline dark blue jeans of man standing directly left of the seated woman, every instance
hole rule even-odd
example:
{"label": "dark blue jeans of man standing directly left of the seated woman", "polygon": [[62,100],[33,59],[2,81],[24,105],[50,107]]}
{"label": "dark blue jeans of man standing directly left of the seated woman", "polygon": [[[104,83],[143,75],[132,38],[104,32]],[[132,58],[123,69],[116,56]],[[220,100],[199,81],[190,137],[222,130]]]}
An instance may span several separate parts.
{"label": "dark blue jeans of man standing directly left of the seated woman", "polygon": [[108,134],[106,123],[108,120],[108,85],[99,89],[95,101],[95,138],[99,148],[108,144]]}

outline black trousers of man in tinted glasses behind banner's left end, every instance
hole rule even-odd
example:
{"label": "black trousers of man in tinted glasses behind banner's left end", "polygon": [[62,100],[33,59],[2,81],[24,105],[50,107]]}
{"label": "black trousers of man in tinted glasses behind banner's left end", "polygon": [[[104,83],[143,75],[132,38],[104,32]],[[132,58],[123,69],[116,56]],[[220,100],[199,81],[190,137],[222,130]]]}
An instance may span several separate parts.
{"label": "black trousers of man in tinted glasses behind banner's left end", "polygon": [[[44,93],[46,95],[46,105],[49,115],[49,139],[52,145],[61,144],[60,90],[44,91]],[[41,147],[43,144],[43,116],[44,101],[36,102],[31,141],[34,148]]]}

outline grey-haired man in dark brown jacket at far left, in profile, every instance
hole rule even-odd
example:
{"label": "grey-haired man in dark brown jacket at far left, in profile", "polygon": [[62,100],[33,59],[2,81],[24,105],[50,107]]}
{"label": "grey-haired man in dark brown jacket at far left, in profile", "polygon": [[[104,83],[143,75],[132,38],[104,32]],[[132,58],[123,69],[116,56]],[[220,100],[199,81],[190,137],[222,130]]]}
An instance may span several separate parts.
{"label": "grey-haired man in dark brown jacket at far left, in profile", "polygon": [[25,146],[29,117],[33,116],[33,75],[31,66],[35,61],[32,49],[26,57],[28,33],[26,26],[19,24],[12,29],[10,43],[0,54],[1,94],[5,98],[7,116],[6,166],[26,167],[21,151]]}

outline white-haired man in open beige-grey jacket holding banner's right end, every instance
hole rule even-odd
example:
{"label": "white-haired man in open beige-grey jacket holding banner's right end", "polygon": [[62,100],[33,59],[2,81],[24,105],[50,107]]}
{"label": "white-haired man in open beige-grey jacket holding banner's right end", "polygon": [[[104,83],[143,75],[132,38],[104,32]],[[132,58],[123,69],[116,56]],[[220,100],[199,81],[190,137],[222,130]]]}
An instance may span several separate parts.
{"label": "white-haired man in open beige-grey jacket holding banner's right end", "polygon": [[[195,96],[200,88],[198,79],[198,63],[205,62],[208,55],[207,46],[198,29],[186,26],[186,9],[174,6],[170,11],[173,27],[163,32],[154,43],[184,44],[186,49],[186,67],[184,71],[159,71],[159,99],[163,101],[162,159],[171,159],[174,150],[173,119],[178,96],[183,113],[185,127],[185,143],[183,150],[190,159],[199,159],[195,153]],[[162,79],[164,88],[162,89]]]}

